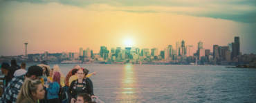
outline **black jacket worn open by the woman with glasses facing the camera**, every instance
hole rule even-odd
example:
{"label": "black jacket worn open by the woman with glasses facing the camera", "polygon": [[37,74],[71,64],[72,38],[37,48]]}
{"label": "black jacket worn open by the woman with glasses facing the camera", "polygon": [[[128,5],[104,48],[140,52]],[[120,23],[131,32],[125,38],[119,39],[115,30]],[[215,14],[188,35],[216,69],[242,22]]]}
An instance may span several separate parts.
{"label": "black jacket worn open by the woman with glasses facing the camera", "polygon": [[[78,80],[78,79],[77,79]],[[68,99],[71,100],[72,98],[75,98],[75,94],[76,94],[76,91],[74,89],[74,85],[75,85],[75,82],[77,82],[77,80],[73,80],[73,82],[71,82],[71,85],[68,87]],[[87,93],[89,95],[94,95],[93,94],[93,89],[91,87],[91,84],[88,80],[82,80],[84,83],[84,86],[86,87],[84,90],[82,90],[82,93]],[[72,91],[72,93],[71,93]],[[76,100],[76,98],[75,98]]]}

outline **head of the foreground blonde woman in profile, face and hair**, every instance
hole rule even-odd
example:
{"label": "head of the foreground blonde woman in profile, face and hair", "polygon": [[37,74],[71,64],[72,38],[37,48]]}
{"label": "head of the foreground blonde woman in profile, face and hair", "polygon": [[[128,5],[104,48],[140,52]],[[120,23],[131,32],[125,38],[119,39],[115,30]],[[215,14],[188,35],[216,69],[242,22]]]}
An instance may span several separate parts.
{"label": "head of the foreground blonde woman in profile, face and hair", "polygon": [[16,102],[36,102],[37,100],[44,99],[44,93],[45,91],[41,80],[26,79],[21,86]]}

